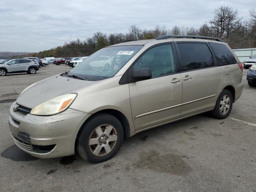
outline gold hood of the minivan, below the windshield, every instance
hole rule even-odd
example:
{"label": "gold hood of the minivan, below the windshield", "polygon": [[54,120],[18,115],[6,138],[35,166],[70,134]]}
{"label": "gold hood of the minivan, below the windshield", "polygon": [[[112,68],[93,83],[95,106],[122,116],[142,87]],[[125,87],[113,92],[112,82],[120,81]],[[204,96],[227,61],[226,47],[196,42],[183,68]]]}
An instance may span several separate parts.
{"label": "gold hood of the minivan, below the windshield", "polygon": [[56,96],[76,93],[80,88],[90,86],[94,82],[55,75],[33,84],[18,96],[16,103],[32,109],[38,104]]}

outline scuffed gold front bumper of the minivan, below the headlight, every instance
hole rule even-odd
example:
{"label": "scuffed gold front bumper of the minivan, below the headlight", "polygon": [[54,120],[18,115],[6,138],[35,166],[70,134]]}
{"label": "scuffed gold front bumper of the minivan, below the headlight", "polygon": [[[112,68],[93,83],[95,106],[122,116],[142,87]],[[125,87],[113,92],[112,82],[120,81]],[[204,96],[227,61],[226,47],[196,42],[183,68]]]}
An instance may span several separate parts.
{"label": "scuffed gold front bumper of the minivan, below the headlight", "polygon": [[68,108],[53,116],[24,115],[10,107],[9,127],[15,144],[38,158],[75,153],[78,131],[90,114]]}

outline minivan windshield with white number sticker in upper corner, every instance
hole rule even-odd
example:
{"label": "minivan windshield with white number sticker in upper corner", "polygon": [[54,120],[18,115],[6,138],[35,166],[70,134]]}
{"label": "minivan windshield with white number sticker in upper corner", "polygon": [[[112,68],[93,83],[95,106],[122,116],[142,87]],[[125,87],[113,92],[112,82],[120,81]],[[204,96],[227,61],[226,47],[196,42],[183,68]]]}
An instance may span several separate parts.
{"label": "minivan windshield with white number sticker in upper corner", "polygon": [[98,81],[114,76],[143,45],[114,46],[98,50],[65,74]]}

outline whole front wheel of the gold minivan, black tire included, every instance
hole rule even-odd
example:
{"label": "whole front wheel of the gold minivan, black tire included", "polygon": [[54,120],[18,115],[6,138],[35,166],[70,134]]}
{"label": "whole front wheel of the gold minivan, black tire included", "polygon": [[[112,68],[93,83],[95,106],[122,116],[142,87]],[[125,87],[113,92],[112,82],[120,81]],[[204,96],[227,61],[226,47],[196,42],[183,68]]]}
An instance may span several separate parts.
{"label": "whole front wheel of the gold minivan, black tire included", "polygon": [[[110,133],[108,130],[111,130]],[[123,139],[124,130],[120,121],[110,114],[99,113],[83,125],[77,138],[76,151],[88,162],[103,162],[118,152]]]}

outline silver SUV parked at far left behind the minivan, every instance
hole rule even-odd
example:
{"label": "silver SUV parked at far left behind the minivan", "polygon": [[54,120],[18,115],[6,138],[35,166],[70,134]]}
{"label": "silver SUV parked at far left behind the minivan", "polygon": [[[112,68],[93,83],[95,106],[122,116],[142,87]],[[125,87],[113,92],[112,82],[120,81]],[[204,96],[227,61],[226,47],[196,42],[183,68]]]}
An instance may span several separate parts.
{"label": "silver SUV parked at far left behind the minivan", "polygon": [[29,59],[12,59],[9,62],[1,64],[0,76],[8,73],[24,73],[35,74],[38,69],[38,62]]}

